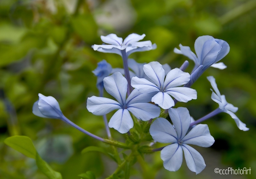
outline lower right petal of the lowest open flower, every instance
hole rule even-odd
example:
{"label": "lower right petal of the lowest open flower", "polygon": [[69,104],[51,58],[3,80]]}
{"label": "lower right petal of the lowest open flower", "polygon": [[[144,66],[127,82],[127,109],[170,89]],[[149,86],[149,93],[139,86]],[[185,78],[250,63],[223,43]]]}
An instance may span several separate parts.
{"label": "lower right petal of the lowest open flower", "polygon": [[206,166],[202,155],[189,145],[182,144],[181,147],[184,151],[185,160],[189,170],[196,172],[196,174],[202,172]]}

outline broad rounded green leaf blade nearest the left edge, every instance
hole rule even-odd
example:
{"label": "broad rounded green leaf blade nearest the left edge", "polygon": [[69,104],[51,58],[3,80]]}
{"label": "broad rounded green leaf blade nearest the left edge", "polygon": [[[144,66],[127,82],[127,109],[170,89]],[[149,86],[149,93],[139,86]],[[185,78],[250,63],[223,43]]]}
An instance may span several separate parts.
{"label": "broad rounded green leaf blade nearest the left edge", "polygon": [[4,143],[27,157],[36,159],[36,148],[27,136],[11,136]]}

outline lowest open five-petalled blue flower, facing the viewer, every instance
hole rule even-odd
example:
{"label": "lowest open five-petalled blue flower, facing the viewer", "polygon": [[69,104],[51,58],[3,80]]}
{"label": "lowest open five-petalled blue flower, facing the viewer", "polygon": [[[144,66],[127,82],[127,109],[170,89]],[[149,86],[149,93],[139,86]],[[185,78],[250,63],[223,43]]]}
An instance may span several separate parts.
{"label": "lowest open five-petalled blue flower, facing the viewer", "polygon": [[[198,124],[188,132],[191,117],[188,109],[184,107],[170,108],[168,110],[172,124],[164,118],[157,118],[150,126],[149,132],[154,140],[160,143],[172,143],[161,151],[164,168],[177,171],[182,164],[182,150],[188,168],[200,173],[205,168],[202,155],[188,144],[201,147],[210,147],[214,143],[206,124]],[[188,134],[186,135],[186,133]]]}

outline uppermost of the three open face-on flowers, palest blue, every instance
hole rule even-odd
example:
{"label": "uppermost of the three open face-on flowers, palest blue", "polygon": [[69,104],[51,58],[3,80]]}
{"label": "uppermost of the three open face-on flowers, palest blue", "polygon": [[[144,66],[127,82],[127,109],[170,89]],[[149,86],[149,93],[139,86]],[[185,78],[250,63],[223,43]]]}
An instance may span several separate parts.
{"label": "uppermost of the three open face-on flowers, palest blue", "polygon": [[168,72],[165,80],[165,71],[159,62],[150,62],[143,66],[143,70],[153,82],[134,76],[131,80],[132,87],[138,89],[141,93],[158,92],[152,97],[151,101],[163,109],[169,109],[174,106],[172,97],[181,102],[196,99],[195,89],[177,87],[188,83],[190,80],[190,75],[181,71],[179,68],[172,69]]}

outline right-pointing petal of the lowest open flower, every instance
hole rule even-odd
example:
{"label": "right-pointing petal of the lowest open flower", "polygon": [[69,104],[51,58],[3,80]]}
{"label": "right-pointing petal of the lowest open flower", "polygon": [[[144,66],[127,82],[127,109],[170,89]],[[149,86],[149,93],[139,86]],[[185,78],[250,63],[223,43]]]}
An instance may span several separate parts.
{"label": "right-pointing petal of the lowest open flower", "polygon": [[193,144],[200,147],[210,147],[214,143],[207,124],[198,124],[182,139],[183,144]]}

